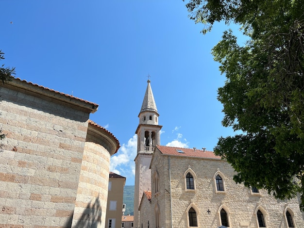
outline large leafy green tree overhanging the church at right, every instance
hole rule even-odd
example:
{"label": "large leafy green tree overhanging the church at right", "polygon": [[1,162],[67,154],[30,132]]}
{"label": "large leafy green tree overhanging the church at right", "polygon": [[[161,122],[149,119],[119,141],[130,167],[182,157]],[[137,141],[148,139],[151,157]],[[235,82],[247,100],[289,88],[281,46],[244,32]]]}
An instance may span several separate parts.
{"label": "large leafy green tree overhanging the church at right", "polygon": [[227,159],[246,186],[284,199],[301,195],[304,210],[304,0],[190,0],[190,18],[240,25],[212,49],[226,81],[218,90],[225,127],[241,134],[221,137],[215,153]]}

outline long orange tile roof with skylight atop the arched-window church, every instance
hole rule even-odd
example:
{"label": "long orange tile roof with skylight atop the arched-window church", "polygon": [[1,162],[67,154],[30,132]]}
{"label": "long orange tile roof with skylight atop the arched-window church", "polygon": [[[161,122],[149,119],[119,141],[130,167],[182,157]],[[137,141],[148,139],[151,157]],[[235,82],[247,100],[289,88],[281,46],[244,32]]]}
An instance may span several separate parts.
{"label": "long orange tile roof with skylight atop the arched-window church", "polygon": [[[181,147],[165,147],[156,145],[162,154],[173,155],[180,157],[197,157],[197,158],[209,158],[209,159],[221,159],[220,156],[214,154],[213,151],[201,150],[201,149],[191,149],[191,148],[181,148]],[[180,153],[177,150],[182,150],[184,153]]]}

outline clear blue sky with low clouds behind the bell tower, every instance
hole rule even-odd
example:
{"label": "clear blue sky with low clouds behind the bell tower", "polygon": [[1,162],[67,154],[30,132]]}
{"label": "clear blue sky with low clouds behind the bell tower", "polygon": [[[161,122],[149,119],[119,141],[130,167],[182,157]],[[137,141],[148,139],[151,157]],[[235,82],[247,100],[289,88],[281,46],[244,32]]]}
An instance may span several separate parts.
{"label": "clear blue sky with low clouds behind the bell tower", "polygon": [[[111,171],[134,185],[135,130],[150,75],[161,145],[206,147],[221,126],[225,77],[210,54],[227,29],[203,35],[182,0],[0,0],[0,64],[16,77],[99,104],[90,115],[120,142]],[[237,26],[233,27],[237,31]]]}

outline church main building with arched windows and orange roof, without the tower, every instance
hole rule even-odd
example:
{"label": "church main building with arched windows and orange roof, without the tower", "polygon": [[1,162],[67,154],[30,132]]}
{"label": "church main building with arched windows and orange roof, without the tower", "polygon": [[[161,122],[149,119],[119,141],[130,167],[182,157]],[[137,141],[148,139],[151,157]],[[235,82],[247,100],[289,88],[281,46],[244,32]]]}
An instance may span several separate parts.
{"label": "church main building with arched windows and orange roof, without the tower", "polygon": [[236,184],[234,169],[212,151],[157,145],[151,173],[152,228],[304,227],[300,199]]}

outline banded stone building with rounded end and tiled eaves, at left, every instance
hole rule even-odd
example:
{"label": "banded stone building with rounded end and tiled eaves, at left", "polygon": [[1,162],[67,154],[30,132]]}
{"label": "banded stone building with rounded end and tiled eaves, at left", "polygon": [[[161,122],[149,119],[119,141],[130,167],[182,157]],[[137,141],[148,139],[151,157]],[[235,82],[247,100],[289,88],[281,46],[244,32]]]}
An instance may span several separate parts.
{"label": "banded stone building with rounded end and tiled eaves, at left", "polygon": [[104,228],[119,142],[98,105],[14,78],[0,94],[0,227]]}

